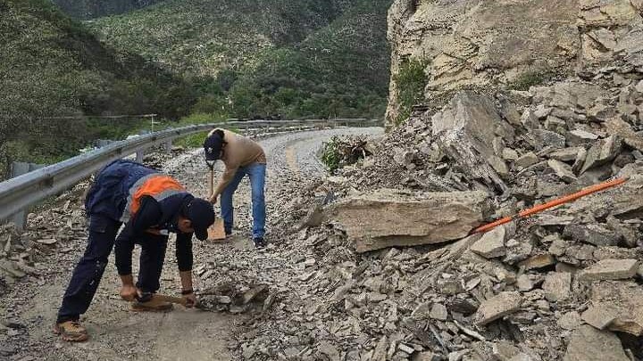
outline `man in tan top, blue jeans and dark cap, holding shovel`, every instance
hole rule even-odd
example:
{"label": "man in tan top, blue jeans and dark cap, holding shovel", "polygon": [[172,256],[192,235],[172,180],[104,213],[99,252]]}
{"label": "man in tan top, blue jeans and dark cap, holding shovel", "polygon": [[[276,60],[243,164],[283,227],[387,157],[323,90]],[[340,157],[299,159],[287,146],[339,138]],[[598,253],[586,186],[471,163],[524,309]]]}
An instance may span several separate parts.
{"label": "man in tan top, blue jeans and dark cap, holding shovel", "polygon": [[266,157],[261,145],[225,129],[214,129],[208,134],[204,143],[205,160],[214,162],[222,160],[225,172],[219,185],[214,188],[210,201],[215,203],[221,195],[221,217],[226,235],[232,234],[234,208],[232,195],[244,176],[250,178],[253,208],[253,241],[256,248],[265,245],[265,186]]}

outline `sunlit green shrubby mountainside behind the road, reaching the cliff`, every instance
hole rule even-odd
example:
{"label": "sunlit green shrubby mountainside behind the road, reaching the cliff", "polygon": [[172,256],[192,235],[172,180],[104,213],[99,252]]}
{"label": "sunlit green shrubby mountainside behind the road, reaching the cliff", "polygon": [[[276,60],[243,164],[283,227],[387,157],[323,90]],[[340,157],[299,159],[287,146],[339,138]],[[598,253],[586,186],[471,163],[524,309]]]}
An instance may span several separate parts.
{"label": "sunlit green shrubby mountainside behind the road, reaching the cliff", "polygon": [[88,21],[200,89],[195,112],[381,117],[391,0],[166,0]]}

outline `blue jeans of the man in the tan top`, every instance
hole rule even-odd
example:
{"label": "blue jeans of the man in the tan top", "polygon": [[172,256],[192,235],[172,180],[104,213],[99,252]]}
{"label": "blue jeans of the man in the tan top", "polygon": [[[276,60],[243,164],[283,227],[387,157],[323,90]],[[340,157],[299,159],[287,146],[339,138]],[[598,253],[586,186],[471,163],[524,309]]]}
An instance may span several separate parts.
{"label": "blue jeans of the man in the tan top", "polygon": [[265,234],[265,199],[263,188],[265,186],[265,164],[253,163],[246,167],[238,168],[230,184],[221,193],[221,217],[225,225],[226,234],[232,233],[234,224],[234,208],[232,195],[244,176],[250,178],[253,204],[253,238],[263,237]]}

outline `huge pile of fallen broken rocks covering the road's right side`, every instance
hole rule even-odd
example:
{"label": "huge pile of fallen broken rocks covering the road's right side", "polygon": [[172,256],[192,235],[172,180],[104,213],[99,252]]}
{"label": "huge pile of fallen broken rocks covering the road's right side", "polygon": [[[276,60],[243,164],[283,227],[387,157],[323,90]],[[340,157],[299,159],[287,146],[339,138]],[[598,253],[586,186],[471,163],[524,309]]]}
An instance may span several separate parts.
{"label": "huge pile of fallen broken rocks covering the road's right side", "polygon": [[[246,359],[643,359],[643,73],[587,71],[591,82],[455,94],[285,198],[277,238],[289,241],[275,254],[299,261],[271,288],[292,297],[251,323]],[[481,223],[615,176],[629,181],[488,234],[402,247],[436,235],[422,194],[447,194],[439,209],[480,192],[497,209]]]}

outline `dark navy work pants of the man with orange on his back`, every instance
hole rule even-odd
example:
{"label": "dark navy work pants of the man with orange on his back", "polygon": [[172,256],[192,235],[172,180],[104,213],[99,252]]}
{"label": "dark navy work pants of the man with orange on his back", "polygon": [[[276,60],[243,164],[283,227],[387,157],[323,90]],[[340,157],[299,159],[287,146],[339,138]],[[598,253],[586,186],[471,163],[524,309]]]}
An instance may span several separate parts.
{"label": "dark navy work pants of the man with orange on his back", "polygon": [[[58,310],[56,323],[78,321],[80,315],[87,312],[103,277],[119,228],[121,228],[121,222],[100,215],[91,215],[87,249],[71,275],[63,297],[63,305]],[[167,236],[150,234],[149,237],[143,237],[139,243],[142,245],[142,251],[137,287],[142,291],[157,291],[167,247]]]}

